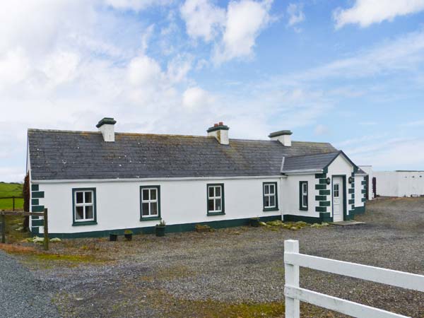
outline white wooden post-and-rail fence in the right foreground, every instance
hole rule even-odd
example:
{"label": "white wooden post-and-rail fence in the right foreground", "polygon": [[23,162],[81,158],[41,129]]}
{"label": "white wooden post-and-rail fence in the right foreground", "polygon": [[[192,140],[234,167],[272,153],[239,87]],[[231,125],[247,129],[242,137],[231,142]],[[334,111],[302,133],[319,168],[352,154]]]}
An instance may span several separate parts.
{"label": "white wooden post-and-rail fence in the right foreground", "polygon": [[424,292],[424,276],[391,269],[324,259],[299,253],[299,241],[284,242],[285,318],[300,317],[300,301],[358,318],[408,318],[299,287],[299,266]]}

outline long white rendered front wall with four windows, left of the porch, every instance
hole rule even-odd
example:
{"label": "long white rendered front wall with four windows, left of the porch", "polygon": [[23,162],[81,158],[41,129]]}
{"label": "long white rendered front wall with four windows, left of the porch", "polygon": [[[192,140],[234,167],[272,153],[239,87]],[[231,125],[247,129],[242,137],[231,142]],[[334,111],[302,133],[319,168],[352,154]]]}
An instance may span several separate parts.
{"label": "long white rendered front wall with four windows, left of the porch", "polygon": [[[45,192],[45,198],[40,199],[40,204],[49,209],[49,232],[52,233],[117,230],[156,225],[158,220],[140,220],[141,185],[160,186],[160,215],[167,225],[281,216],[281,210],[263,211],[263,182],[278,182],[277,189],[280,189],[280,178],[40,183],[40,191]],[[206,184],[211,183],[224,184],[225,215],[207,216]],[[92,187],[96,189],[98,224],[72,226],[72,189]],[[278,201],[281,201],[280,198],[281,193],[278,193]]]}

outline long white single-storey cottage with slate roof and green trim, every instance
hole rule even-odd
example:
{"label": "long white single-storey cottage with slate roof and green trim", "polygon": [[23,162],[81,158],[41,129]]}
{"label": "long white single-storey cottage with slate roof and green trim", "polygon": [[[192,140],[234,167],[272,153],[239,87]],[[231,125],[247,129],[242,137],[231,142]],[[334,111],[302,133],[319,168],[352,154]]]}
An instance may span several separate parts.
{"label": "long white single-storey cottage with slate roof and green trim", "polygon": [[[366,174],[329,143],[207,136],[28,130],[31,211],[49,209],[53,237],[224,228],[261,220],[351,220],[365,211]],[[34,234],[42,220],[32,218]]]}

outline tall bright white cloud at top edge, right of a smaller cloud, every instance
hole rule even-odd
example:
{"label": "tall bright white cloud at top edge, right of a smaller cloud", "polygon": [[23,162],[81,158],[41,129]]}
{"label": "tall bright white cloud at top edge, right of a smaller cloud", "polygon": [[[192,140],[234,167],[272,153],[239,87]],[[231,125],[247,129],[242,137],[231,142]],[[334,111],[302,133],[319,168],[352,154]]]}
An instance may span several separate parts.
{"label": "tall bright white cloud at top edge, right of a smaller cloud", "polygon": [[228,4],[223,41],[215,54],[217,63],[252,55],[260,31],[271,21],[269,11],[272,2],[241,0]]}

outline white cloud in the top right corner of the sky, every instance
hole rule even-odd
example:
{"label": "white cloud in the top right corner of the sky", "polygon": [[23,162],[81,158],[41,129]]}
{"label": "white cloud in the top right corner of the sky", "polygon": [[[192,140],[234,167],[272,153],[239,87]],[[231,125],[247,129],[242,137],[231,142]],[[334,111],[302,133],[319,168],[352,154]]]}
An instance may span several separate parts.
{"label": "white cloud in the top right corner of the sky", "polygon": [[424,0],[356,0],[353,7],[337,8],[334,11],[336,28],[349,23],[358,23],[366,28],[372,23],[393,20],[396,16],[405,16],[424,10]]}

